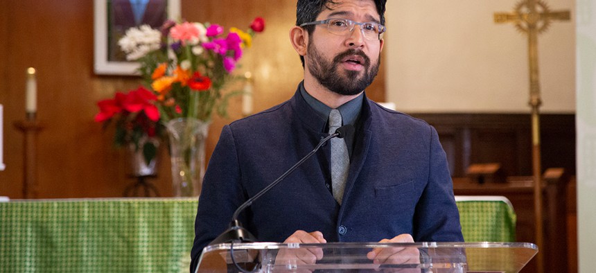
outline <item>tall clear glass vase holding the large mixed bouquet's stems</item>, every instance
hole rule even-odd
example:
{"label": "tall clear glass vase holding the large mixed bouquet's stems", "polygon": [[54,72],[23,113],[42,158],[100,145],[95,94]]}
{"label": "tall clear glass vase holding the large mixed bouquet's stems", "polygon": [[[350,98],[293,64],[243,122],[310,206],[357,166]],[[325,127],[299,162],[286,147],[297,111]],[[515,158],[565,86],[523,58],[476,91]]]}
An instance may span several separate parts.
{"label": "tall clear glass vase holding the large mixed bouquet's stems", "polygon": [[196,118],[177,118],[166,123],[175,197],[198,197],[201,193],[209,124]]}

